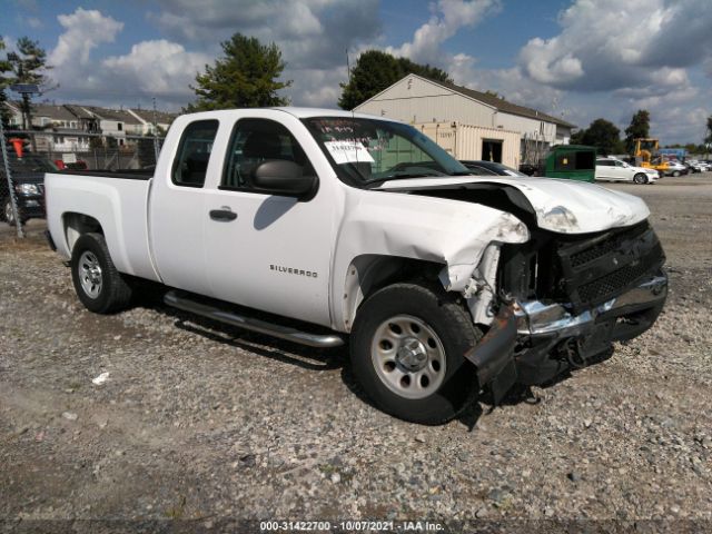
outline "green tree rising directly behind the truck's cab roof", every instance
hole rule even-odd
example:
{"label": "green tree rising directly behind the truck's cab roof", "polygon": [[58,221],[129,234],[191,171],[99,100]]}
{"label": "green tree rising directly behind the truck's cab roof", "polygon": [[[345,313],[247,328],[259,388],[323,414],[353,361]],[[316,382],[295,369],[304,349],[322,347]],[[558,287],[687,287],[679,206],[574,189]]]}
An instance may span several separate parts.
{"label": "green tree rising directly behind the truck's cab roof", "polygon": [[258,39],[241,33],[220,44],[225,56],[212,67],[206,65],[205,73],[196,76],[197,85],[190,88],[198,99],[189,103],[186,111],[288,103],[277,95],[291,86],[291,80],[279,80],[286,63],[277,44],[261,44]]}

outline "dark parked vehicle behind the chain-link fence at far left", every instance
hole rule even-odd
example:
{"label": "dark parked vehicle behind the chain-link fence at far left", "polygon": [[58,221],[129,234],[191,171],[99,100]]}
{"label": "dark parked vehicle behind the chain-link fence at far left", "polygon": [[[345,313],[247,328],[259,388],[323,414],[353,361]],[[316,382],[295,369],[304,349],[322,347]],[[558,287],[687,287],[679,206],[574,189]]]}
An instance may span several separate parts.
{"label": "dark parked vehicle behind the chain-link fence at far left", "polygon": [[[44,172],[53,172],[57,167],[43,155],[8,150],[10,172],[14,184],[18,216],[20,224],[31,218],[44,217]],[[16,225],[12,201],[7,190],[4,165],[0,165],[0,220]]]}

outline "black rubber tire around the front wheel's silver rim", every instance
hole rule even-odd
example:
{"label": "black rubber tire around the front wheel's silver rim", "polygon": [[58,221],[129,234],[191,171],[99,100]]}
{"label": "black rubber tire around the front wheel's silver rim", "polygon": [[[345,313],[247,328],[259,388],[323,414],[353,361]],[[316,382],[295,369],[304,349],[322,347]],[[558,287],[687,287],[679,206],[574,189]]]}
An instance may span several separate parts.
{"label": "black rubber tire around the front wheel's silver rim", "polygon": [[[435,333],[439,342],[437,354],[441,354],[441,349],[444,353],[442,355],[445,360],[444,369],[439,364],[437,366],[442,370],[442,376],[432,384],[436,389],[424,398],[406,398],[393,390],[395,386],[387,385],[387,378],[379,376],[379,374],[386,376],[386,373],[395,369],[404,373],[404,367],[398,363],[400,355],[398,347],[392,349],[394,362],[387,362],[390,368],[386,368],[386,362],[384,362],[383,370],[376,369],[377,355],[372,354],[372,350],[378,352],[379,347],[376,344],[376,334],[382,332],[384,325],[390,327],[390,319],[402,317],[412,317],[421,326],[425,325],[424,330],[429,329]],[[418,336],[418,334],[414,335]],[[428,335],[425,332],[425,336]],[[478,393],[474,367],[463,355],[481,338],[482,332],[473,325],[472,317],[462,305],[455,301],[454,296],[435,286],[395,284],[376,291],[358,309],[350,336],[354,375],[368,397],[387,414],[425,425],[446,423],[456,417],[468,405],[468,400],[474,400],[473,394]],[[427,339],[428,345],[431,342],[435,343],[434,339]],[[405,342],[402,342],[400,346],[403,343]],[[427,352],[427,348],[422,346]],[[382,360],[378,359],[378,362]],[[434,363],[429,362],[429,356],[425,365],[434,366]],[[429,369],[428,367],[428,372]],[[438,369],[435,369],[436,376]],[[418,375],[409,374],[409,376]],[[439,380],[442,382],[437,385]],[[408,387],[409,382],[411,379],[408,379]]]}

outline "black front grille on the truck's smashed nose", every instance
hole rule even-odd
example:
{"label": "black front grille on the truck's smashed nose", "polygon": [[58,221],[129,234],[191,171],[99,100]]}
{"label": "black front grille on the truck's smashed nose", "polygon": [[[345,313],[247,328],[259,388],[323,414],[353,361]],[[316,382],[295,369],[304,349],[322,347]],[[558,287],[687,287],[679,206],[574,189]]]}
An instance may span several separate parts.
{"label": "black front grille on the truck's smashed nose", "polygon": [[562,286],[576,313],[624,293],[665,259],[647,222],[562,244],[558,257]]}

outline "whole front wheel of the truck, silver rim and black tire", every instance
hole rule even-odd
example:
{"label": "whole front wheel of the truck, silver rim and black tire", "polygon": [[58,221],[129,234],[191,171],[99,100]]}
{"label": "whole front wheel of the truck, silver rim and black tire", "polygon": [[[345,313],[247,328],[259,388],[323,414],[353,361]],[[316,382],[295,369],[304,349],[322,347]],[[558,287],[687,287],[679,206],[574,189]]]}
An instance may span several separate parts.
{"label": "whole front wheel of the truck, silver rim and black tire", "polygon": [[356,378],[384,412],[445,423],[478,389],[464,354],[482,338],[467,312],[442,289],[395,284],[358,310],[350,356]]}

